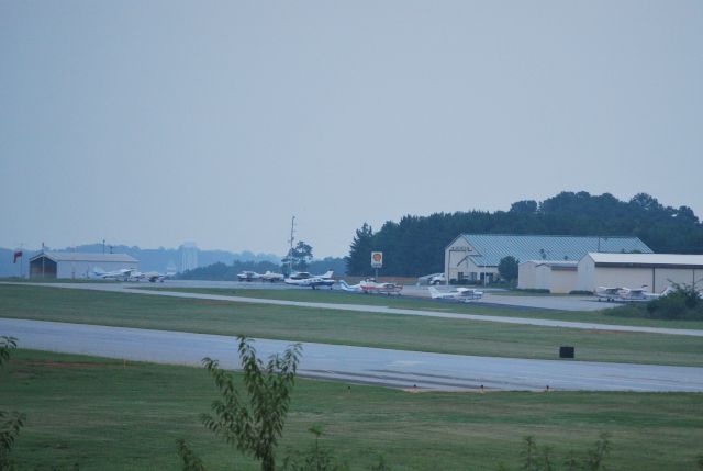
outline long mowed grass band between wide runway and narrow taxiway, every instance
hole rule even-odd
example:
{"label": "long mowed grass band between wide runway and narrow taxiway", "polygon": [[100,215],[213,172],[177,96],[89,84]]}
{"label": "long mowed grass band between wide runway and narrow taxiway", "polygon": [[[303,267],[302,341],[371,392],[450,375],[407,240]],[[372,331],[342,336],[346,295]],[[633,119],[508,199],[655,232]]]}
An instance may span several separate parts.
{"label": "long mowed grass band between wide runway and narrow taxiway", "polygon": [[[703,338],[0,285],[0,317],[460,355],[703,366]],[[0,333],[1,335],[1,333]]]}

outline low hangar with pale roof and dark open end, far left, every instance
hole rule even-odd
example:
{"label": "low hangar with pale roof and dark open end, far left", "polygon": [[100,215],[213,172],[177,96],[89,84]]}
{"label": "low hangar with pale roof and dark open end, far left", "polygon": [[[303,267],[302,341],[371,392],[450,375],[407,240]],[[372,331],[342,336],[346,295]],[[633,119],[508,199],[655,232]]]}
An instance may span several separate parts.
{"label": "low hangar with pale roof and dark open end, far left", "polygon": [[72,251],[41,251],[30,259],[30,278],[86,279],[93,270],[115,271],[123,268],[136,270],[138,260],[126,254],[80,254]]}

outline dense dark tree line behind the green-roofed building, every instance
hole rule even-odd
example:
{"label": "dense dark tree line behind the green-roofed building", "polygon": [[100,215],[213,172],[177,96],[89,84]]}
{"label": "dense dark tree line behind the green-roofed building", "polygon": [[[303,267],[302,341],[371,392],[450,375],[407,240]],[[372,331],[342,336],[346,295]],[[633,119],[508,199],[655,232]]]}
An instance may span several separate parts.
{"label": "dense dark tree line behind the green-roofed building", "polygon": [[561,192],[542,202],[517,201],[510,211],[405,215],[380,231],[356,231],[347,273],[369,276],[370,254],[383,253],[384,276],[417,277],[444,271],[444,249],[459,234],[635,236],[655,253],[703,254],[703,224],[689,206],[665,206],[646,193],[621,201],[610,193]]}

